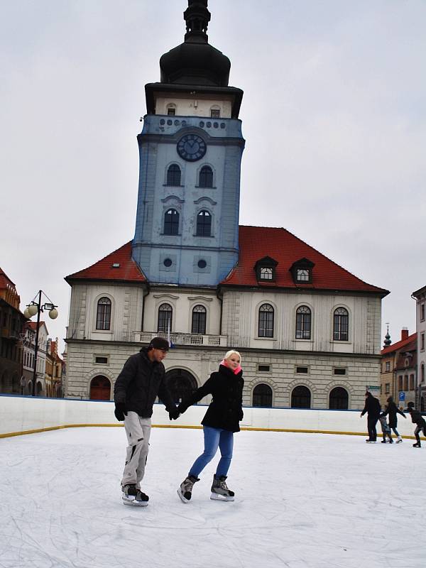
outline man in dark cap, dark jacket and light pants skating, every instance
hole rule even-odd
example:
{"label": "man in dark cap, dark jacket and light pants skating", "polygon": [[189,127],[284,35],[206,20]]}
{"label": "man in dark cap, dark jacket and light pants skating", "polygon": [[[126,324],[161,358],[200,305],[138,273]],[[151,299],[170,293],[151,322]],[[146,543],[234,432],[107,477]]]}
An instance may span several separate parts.
{"label": "man in dark cap, dark jacket and light pants skating", "polygon": [[127,359],[114,385],[114,414],[117,420],[124,420],[128,442],[121,479],[125,505],[148,505],[148,496],[141,491],[141,481],[145,474],[155,398],[162,400],[170,420],[179,416],[165,384],[162,361],[168,349],[166,339],[154,337],[147,348]]}

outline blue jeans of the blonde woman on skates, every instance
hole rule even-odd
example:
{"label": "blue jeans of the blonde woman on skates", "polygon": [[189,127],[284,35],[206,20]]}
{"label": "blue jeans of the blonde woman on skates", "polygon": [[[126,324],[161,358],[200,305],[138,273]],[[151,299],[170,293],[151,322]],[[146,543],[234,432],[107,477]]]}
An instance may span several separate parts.
{"label": "blue jeans of the blonde woman on skates", "polygon": [[212,461],[219,447],[221,458],[219,464],[217,464],[216,475],[218,477],[222,475],[226,476],[229,466],[231,465],[232,449],[234,448],[234,432],[222,430],[222,428],[212,428],[210,426],[204,426],[203,431],[204,452],[202,452],[201,456],[197,457],[188,475],[198,477],[209,461]]}

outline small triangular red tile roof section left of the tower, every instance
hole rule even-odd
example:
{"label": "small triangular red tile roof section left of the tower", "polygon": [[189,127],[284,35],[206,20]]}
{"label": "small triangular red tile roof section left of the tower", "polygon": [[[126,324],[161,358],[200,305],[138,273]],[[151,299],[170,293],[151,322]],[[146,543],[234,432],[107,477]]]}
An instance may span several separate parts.
{"label": "small triangular red tile roof section left of the tower", "polygon": [[[114,267],[114,264],[119,266]],[[146,281],[138,265],[133,261],[133,258],[131,258],[131,241],[105,256],[100,261],[97,261],[97,263],[92,264],[92,266],[65,277],[68,283],[70,283],[70,280],[80,279],[124,280],[126,282]]]}

